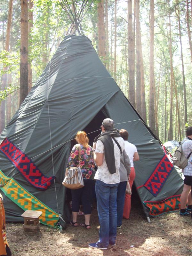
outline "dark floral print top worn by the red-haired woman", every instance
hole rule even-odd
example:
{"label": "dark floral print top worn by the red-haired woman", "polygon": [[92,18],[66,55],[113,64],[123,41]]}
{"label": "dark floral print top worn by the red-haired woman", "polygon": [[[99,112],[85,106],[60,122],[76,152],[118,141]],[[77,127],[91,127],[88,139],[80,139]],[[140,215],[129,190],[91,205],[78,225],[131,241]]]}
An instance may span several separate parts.
{"label": "dark floral print top worn by the red-haired woman", "polygon": [[[81,148],[81,156],[79,161],[79,148]],[[84,148],[82,144],[76,144],[70,153],[68,158],[67,168],[70,167],[81,167],[81,172],[84,180],[93,179],[95,175],[94,161],[92,156],[92,147]]]}

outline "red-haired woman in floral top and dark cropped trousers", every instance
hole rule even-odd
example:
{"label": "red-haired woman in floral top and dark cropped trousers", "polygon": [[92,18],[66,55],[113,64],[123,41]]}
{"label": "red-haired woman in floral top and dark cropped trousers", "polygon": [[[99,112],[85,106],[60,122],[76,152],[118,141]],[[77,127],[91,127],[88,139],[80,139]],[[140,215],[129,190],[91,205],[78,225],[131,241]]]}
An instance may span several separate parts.
{"label": "red-haired woman in floral top and dark cropped trousers", "polygon": [[[95,174],[92,147],[88,144],[89,139],[84,131],[77,132],[76,141],[78,144],[76,144],[71,150],[67,167],[76,167],[78,165],[81,167],[84,187],[79,189],[71,189],[73,219],[70,221],[70,224],[74,227],[78,226],[77,214],[79,212],[80,203],[82,202],[85,222],[80,224],[80,226],[90,229],[92,186],[93,177]],[[81,149],[80,159],[79,147]]]}

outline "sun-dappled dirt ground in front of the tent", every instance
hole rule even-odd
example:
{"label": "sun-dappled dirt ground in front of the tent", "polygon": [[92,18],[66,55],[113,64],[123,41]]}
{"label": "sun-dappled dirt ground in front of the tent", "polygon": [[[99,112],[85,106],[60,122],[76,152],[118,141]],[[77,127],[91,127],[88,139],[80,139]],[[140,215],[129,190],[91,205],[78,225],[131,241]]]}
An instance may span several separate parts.
{"label": "sun-dappled dirt ground in front of the tent", "polygon": [[[93,207],[90,230],[68,225],[64,232],[44,225],[36,234],[24,232],[22,223],[7,223],[7,238],[13,256],[191,256],[192,220],[179,212],[146,220],[142,206],[133,202],[129,220],[117,230],[116,246],[108,250],[92,249],[88,243],[98,240],[99,221]],[[83,223],[79,216],[78,223]]]}

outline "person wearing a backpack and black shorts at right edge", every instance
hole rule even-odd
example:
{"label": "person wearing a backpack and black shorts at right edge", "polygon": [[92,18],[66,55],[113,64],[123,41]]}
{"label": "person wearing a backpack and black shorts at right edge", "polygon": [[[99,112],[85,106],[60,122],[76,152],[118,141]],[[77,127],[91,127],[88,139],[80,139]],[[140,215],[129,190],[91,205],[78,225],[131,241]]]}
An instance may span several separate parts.
{"label": "person wearing a backpack and black shorts at right edge", "polygon": [[[187,137],[182,141],[182,151],[185,157],[188,157],[188,156],[189,157],[188,157],[188,165],[184,169],[182,169],[185,179],[184,179],[183,191],[180,196],[180,204],[181,204],[180,215],[183,215],[183,216],[189,215],[187,210],[191,210],[191,198],[189,198],[188,195],[191,196],[190,190],[192,188],[192,154],[190,155],[192,151],[192,126],[189,126],[187,128],[186,135]],[[188,208],[186,209],[187,200],[188,200]]]}

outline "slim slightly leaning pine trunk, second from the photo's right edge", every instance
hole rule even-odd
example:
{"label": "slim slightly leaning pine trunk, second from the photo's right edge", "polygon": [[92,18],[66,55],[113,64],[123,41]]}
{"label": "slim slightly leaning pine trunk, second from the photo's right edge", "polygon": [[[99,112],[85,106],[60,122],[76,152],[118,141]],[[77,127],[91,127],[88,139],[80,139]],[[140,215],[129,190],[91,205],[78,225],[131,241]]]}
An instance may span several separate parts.
{"label": "slim slightly leaning pine trunk, second from the photo's right edge", "polygon": [[182,63],[182,76],[183,76],[183,92],[184,92],[184,106],[185,106],[185,124],[187,123],[187,96],[186,96],[186,84],[185,84],[185,72],[184,72],[184,61],[183,61],[183,49],[181,40],[181,24],[180,24],[180,10],[179,1],[176,0],[175,12],[179,23],[179,37],[180,37],[180,49],[181,49],[181,63]]}

